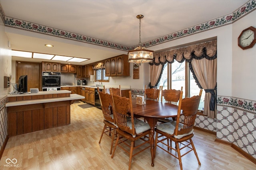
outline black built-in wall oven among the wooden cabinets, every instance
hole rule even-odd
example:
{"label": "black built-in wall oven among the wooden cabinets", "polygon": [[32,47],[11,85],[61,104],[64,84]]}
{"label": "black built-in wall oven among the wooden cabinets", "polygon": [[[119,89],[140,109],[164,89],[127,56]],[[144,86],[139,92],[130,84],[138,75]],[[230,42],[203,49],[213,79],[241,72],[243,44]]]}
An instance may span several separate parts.
{"label": "black built-in wall oven among the wooden cabinets", "polygon": [[60,72],[42,72],[42,90],[60,90]]}

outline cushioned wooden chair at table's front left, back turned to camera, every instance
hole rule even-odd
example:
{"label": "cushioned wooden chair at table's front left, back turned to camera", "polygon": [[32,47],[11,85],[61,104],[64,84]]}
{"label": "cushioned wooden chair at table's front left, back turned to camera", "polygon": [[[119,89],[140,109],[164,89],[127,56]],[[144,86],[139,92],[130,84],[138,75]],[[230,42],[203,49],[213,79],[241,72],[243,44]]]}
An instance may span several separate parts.
{"label": "cushioned wooden chair at table's front left, back turned to camera", "polygon": [[[131,164],[132,164],[132,156],[135,156],[136,154],[150,147],[150,140],[151,140],[150,125],[148,125],[148,123],[145,123],[144,121],[134,119],[131,91],[129,91],[129,98],[113,95],[112,89],[110,89],[110,94],[112,96],[113,113],[116,119],[116,125],[118,126],[118,128],[116,129],[117,131],[116,144],[114,146],[111,158],[114,157],[116,147],[119,146],[125,152],[130,154],[130,158],[129,158],[129,170],[130,170]],[[130,121],[128,121],[127,119],[128,111],[131,117]],[[148,135],[149,139],[142,138],[146,135]],[[139,139],[142,142],[140,143],[138,142],[137,145],[134,146],[134,142],[138,141]],[[131,141],[130,145],[128,143],[129,141]],[[145,144],[148,144],[148,146],[141,148],[142,145],[145,145]],[[125,149],[124,145],[130,146],[130,152]],[[139,151],[133,154],[133,150],[139,147],[140,147]]]}

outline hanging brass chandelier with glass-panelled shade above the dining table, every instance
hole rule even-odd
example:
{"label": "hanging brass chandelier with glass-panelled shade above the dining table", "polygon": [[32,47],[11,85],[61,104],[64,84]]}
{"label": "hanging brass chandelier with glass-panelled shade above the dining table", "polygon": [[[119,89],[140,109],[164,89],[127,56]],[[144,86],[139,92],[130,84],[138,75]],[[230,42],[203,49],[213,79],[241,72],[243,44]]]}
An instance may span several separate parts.
{"label": "hanging brass chandelier with glass-panelled shade above the dining table", "polygon": [[[138,19],[143,18],[143,15],[137,15]],[[139,42],[138,46],[131,51],[128,51],[128,60],[130,63],[149,63],[153,59],[153,52],[152,50],[147,50],[145,47],[142,47],[142,43]]]}

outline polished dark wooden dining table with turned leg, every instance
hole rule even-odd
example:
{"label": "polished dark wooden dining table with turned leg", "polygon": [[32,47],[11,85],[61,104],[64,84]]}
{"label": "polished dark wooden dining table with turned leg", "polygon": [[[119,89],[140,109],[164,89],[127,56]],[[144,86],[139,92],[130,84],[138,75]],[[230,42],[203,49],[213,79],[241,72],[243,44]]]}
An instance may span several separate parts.
{"label": "polished dark wooden dining table with turned leg", "polygon": [[146,104],[136,104],[136,99],[132,99],[132,107],[134,117],[144,117],[150,125],[150,152],[151,152],[151,166],[154,166],[154,133],[155,126],[159,118],[176,117],[178,112],[178,106],[168,104],[165,102],[156,102],[152,100],[146,100]]}

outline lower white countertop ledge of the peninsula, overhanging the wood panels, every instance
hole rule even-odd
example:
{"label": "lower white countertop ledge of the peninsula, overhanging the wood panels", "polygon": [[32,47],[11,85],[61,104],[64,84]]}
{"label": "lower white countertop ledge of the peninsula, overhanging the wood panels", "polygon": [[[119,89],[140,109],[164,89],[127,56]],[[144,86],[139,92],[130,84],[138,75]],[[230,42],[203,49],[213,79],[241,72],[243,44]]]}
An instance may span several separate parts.
{"label": "lower white countertop ledge of the peninsula, overhanging the wood panels", "polygon": [[[59,91],[61,91],[61,90],[59,90]],[[62,91],[64,91],[64,90],[62,90]],[[68,90],[66,90],[66,91],[68,91]],[[70,91],[68,91],[68,92],[70,92]],[[78,100],[78,99],[84,99],[84,96],[81,96],[78,94],[70,94],[70,97],[64,97],[64,98],[50,98],[50,99],[23,100],[23,101],[17,101],[17,102],[8,102],[5,104],[5,107],[22,106],[22,105],[28,105],[28,104],[50,103],[50,102],[60,102],[60,101]]]}

